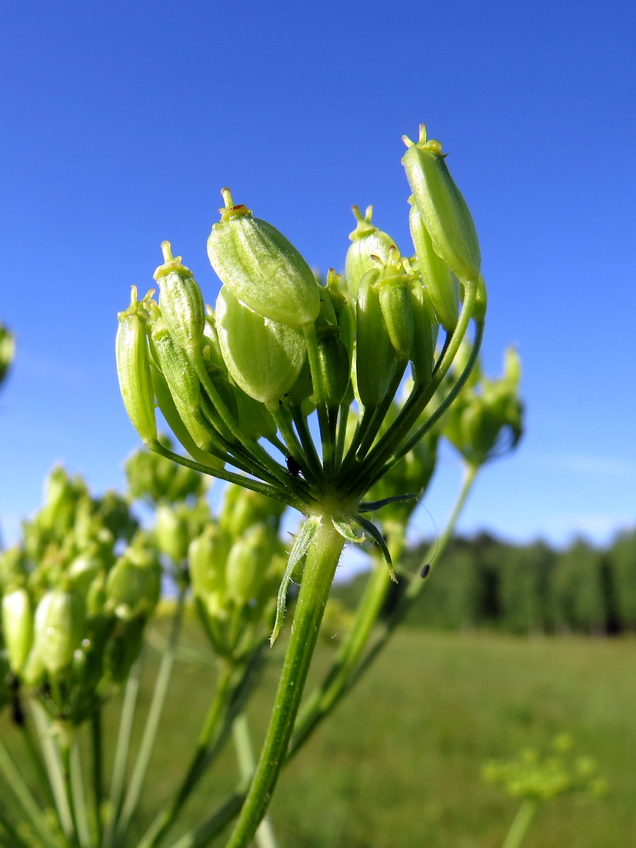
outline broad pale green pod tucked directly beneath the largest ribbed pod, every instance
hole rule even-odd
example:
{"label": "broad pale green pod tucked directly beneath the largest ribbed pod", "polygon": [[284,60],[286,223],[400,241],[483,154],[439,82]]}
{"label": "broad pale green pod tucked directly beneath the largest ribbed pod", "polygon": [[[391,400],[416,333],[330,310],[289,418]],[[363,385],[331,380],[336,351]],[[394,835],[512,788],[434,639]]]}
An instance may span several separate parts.
{"label": "broad pale green pod tucked directly beneath the largest ribbed pod", "polygon": [[292,388],[306,354],[302,332],[264,318],[226,287],[216,301],[216,326],[227,370],[251,398],[267,404]]}

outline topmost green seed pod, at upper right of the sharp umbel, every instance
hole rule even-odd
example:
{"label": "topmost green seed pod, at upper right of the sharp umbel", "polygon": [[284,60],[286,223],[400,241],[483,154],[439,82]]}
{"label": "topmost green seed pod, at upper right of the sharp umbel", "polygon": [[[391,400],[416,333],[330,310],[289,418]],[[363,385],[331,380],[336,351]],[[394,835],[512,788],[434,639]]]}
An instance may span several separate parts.
{"label": "topmost green seed pod, at upper right of the sharp umbel", "polygon": [[481,265],[479,242],[472,216],[444,162],[442,145],[427,140],[421,124],[417,143],[404,136],[408,148],[402,164],[435,253],[461,282],[477,280]]}

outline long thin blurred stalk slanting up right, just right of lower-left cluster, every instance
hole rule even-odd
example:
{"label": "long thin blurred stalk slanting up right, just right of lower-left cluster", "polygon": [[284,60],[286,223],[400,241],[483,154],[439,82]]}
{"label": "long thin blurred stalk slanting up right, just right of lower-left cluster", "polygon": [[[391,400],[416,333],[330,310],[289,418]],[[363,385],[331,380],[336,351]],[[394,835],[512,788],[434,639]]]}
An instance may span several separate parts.
{"label": "long thin blurred stalk slanting up right, just right of lower-left cluster", "polygon": [[137,751],[137,760],[132,769],[131,782],[128,784],[124,805],[121,808],[120,817],[114,828],[115,845],[123,844],[126,838],[126,831],[131,823],[131,818],[137,809],[139,796],[142,792],[143,780],[146,777],[148,763],[153,753],[154,743],[157,739],[157,731],[159,730],[159,721],[161,713],[164,709],[165,696],[168,692],[168,683],[170,683],[170,674],[175,661],[176,644],[181,633],[181,619],[183,617],[183,603],[185,600],[185,589],[180,589],[179,596],[176,602],[175,617],[172,620],[172,629],[170,631],[170,640],[161,657],[159,671],[154,683],[153,697],[150,701],[148,709],[148,717],[146,726],[143,730],[142,741]]}

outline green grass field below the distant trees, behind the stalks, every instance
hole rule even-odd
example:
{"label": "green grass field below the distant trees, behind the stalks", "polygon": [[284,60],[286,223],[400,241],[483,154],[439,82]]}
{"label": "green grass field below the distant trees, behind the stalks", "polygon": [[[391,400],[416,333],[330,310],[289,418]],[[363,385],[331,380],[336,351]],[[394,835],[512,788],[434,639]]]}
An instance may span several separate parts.
{"label": "green grass field below the distant trees, behind the stalks", "polygon": [[[329,659],[321,648],[315,672]],[[516,802],[483,784],[483,761],[548,745],[566,731],[600,764],[611,790],[600,800],[571,796],[544,806],[527,848],[636,846],[635,671],[633,639],[397,633],[283,773],[271,805],[279,844],[497,848]],[[272,663],[250,709],[257,739],[275,679]],[[140,828],[184,765],[212,677],[181,666],[173,683]],[[229,750],[187,807],[187,822],[213,810],[236,778]]]}

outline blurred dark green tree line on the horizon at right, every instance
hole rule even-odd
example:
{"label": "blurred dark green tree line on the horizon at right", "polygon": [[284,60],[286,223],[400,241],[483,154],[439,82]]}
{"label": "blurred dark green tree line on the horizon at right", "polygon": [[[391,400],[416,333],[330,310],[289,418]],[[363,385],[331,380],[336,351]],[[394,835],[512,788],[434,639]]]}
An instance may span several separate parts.
{"label": "blurred dark green tree line on the horizon at right", "polygon": [[[427,545],[410,551],[411,572]],[[337,587],[345,605],[360,593],[364,576]],[[578,538],[566,550],[544,542],[518,545],[481,533],[455,538],[410,611],[411,626],[509,633],[636,632],[636,529],[605,549]],[[404,587],[405,581],[401,581]],[[388,599],[388,608],[400,583]]]}

